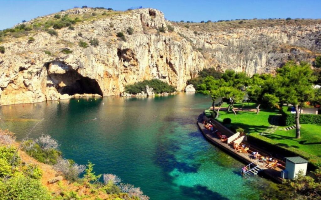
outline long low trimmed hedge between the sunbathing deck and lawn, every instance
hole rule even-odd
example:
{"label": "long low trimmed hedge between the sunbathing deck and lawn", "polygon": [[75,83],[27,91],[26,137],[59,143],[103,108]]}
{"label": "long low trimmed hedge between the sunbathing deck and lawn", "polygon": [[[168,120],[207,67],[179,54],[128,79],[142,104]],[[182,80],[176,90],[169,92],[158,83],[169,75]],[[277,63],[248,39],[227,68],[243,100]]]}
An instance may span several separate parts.
{"label": "long low trimmed hedge between the sunbathing deck and lawn", "polygon": [[255,134],[248,135],[247,141],[251,144],[255,144],[260,148],[264,148],[265,150],[273,153],[273,156],[278,157],[278,155],[282,156],[301,156],[304,159],[308,160],[311,166],[309,166],[310,170],[315,170],[318,167],[321,167],[321,158],[307,152],[301,151],[294,147],[282,147],[278,144],[277,140],[269,139],[265,136]]}

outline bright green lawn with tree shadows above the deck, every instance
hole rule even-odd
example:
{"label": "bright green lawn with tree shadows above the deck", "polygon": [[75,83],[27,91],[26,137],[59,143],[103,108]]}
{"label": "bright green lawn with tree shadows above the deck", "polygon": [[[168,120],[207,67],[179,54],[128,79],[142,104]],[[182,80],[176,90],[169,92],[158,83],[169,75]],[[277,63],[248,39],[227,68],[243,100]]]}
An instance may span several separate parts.
{"label": "bright green lawn with tree shadows above the deck", "polygon": [[[223,106],[226,107],[226,104]],[[237,104],[234,107],[239,106],[242,106],[242,104]],[[255,104],[250,104],[249,107],[253,108]],[[288,108],[283,109],[287,110]],[[314,164],[321,164],[321,125],[301,124],[300,139],[295,138],[295,129],[285,131],[285,126],[278,126],[274,133],[259,134],[265,132],[271,125],[269,123],[271,117],[277,114],[280,114],[277,109],[261,109],[258,115],[250,111],[239,111],[237,115],[234,115],[232,111],[230,113],[220,111],[217,120],[222,122],[224,118],[230,118],[231,125],[234,128],[243,128],[246,133],[250,133],[257,139],[296,152]]]}

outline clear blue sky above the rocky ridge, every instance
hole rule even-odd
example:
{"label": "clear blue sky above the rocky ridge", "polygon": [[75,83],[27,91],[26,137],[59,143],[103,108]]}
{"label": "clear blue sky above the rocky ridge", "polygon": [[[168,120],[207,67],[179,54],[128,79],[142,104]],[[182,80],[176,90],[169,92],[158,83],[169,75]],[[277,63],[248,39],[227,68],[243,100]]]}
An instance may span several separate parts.
{"label": "clear blue sky above the rocky ridge", "polygon": [[82,5],[114,10],[151,7],[161,10],[166,19],[173,21],[321,18],[321,0],[0,0],[0,29]]}

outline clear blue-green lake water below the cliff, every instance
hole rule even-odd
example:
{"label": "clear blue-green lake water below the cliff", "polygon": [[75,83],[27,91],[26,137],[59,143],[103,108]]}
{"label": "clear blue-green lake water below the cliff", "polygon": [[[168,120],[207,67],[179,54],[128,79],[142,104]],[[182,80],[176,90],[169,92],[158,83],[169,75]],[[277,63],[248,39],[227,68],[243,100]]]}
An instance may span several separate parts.
{"label": "clear blue-green lake water below the cliff", "polygon": [[198,130],[196,118],[210,105],[184,93],[20,104],[0,107],[0,127],[19,139],[43,119],[31,137],[50,134],[65,158],[90,160],[96,173],[117,174],[151,199],[259,199],[271,183],[241,177],[243,164]]}

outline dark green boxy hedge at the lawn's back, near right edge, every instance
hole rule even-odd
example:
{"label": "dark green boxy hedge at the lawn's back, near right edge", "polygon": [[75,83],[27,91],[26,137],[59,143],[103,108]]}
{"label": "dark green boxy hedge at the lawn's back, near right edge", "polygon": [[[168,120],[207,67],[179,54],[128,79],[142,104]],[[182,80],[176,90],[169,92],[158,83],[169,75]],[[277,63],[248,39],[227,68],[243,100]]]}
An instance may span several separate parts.
{"label": "dark green boxy hedge at the lawn's back, near right edge", "polygon": [[[295,124],[295,114],[290,114],[282,110],[283,124],[290,126]],[[300,114],[300,124],[321,124],[321,115]]]}

